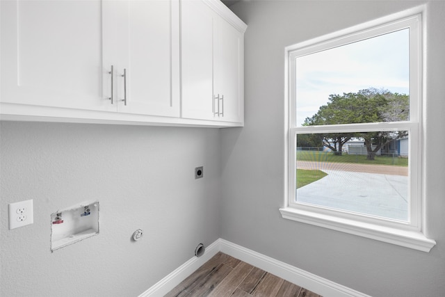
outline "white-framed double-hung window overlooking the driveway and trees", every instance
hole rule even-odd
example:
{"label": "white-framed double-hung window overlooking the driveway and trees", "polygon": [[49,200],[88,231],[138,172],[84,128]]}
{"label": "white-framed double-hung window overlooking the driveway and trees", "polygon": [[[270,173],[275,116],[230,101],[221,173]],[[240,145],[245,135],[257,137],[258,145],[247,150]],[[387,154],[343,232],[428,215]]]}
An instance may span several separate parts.
{"label": "white-framed double-hung window overlooking the driveway and trees", "polygon": [[421,232],[421,48],[421,15],[286,48],[285,218]]}

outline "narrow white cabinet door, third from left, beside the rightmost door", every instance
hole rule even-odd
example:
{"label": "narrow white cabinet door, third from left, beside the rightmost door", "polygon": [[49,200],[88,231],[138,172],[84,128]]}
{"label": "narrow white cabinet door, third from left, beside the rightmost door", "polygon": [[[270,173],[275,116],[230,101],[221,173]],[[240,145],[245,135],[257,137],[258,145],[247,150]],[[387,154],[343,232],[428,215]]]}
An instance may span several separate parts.
{"label": "narrow white cabinet door, third from left, beside the rightmost door", "polygon": [[214,19],[213,11],[202,1],[181,2],[182,118],[215,119]]}

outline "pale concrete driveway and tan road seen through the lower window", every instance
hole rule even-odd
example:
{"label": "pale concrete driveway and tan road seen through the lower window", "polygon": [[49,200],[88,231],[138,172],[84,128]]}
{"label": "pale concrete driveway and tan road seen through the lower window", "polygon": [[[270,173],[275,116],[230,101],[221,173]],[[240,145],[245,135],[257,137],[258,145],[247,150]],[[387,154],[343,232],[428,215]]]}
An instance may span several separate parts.
{"label": "pale concrete driveway and tan road seen through the lower window", "polygon": [[298,161],[298,169],[318,169],[327,176],[297,189],[298,202],[407,220],[407,168],[350,163]]}

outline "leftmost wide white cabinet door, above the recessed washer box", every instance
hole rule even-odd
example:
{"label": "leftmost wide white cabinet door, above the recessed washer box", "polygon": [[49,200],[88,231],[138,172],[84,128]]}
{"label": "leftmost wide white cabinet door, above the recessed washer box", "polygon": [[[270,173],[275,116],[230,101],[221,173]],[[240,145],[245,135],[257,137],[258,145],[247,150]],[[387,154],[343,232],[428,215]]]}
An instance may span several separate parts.
{"label": "leftmost wide white cabinet door, above the recessed washer box", "polygon": [[101,1],[0,5],[1,102],[113,110],[102,93]]}

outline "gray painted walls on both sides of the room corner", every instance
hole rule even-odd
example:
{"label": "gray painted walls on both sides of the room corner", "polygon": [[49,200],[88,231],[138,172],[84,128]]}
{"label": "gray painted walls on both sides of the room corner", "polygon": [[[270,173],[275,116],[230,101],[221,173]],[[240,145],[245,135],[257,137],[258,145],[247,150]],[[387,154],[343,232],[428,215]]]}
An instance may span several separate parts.
{"label": "gray painted walls on both sides of the room corner", "polygon": [[[220,235],[373,296],[445,291],[444,1],[431,1],[426,147],[430,253],[280,217],[284,47],[415,6],[413,1],[245,1],[245,127],[1,122],[0,296],[138,296]],[[426,139],[428,142],[428,139]],[[193,168],[204,165],[204,179]],[[223,195],[218,195],[218,188]],[[8,230],[8,203],[34,199]],[[99,236],[49,251],[49,216],[101,202]],[[254,207],[252,207],[254,205]],[[221,222],[221,223],[220,223]],[[137,228],[142,241],[130,240]],[[85,291],[87,290],[87,291]]]}

